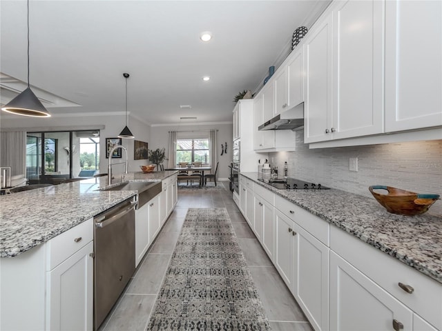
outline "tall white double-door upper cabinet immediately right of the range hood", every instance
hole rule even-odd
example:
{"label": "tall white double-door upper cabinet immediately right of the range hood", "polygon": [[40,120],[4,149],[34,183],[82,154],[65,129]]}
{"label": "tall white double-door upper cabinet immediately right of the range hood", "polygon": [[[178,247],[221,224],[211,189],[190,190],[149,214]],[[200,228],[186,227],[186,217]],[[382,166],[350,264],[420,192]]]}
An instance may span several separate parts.
{"label": "tall white double-door upper cabinet immediately right of the range hood", "polygon": [[338,1],[307,34],[305,142],[383,132],[383,1]]}

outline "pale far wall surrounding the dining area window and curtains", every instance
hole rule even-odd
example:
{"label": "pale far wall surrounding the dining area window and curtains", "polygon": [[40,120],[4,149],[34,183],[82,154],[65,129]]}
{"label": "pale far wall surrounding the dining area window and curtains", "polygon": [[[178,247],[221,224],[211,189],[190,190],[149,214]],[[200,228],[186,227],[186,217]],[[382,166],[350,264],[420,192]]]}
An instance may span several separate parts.
{"label": "pale far wall surrounding the dining area window and curtains", "polygon": [[[218,130],[218,179],[229,178],[229,165],[232,161],[232,137],[233,127],[232,123],[227,124],[213,124],[213,125],[177,125],[177,126],[153,126],[151,128],[151,141],[149,142],[149,149],[156,150],[157,148],[166,148],[166,157],[169,154],[169,131],[200,131],[200,130]],[[221,144],[227,142],[227,154],[221,155]],[[164,165],[167,163],[164,162]]]}

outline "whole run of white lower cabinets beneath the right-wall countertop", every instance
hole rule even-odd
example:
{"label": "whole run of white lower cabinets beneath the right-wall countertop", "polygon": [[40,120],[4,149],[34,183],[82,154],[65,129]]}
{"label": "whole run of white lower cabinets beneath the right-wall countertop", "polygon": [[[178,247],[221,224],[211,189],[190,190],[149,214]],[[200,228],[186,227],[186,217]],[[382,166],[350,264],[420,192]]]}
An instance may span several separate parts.
{"label": "whole run of white lower cabinets beneath the right-wall countertop", "polygon": [[240,185],[242,214],[314,330],[442,330],[440,283],[247,177]]}

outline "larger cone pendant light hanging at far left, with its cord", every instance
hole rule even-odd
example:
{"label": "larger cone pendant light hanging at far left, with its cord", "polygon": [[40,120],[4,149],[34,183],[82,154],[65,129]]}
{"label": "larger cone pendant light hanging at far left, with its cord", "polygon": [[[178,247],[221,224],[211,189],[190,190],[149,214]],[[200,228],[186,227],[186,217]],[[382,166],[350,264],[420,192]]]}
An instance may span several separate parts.
{"label": "larger cone pendant light hanging at far left, with its cord", "polygon": [[4,112],[28,117],[50,117],[43,104],[30,89],[29,83],[29,0],[28,0],[28,88],[1,108]]}

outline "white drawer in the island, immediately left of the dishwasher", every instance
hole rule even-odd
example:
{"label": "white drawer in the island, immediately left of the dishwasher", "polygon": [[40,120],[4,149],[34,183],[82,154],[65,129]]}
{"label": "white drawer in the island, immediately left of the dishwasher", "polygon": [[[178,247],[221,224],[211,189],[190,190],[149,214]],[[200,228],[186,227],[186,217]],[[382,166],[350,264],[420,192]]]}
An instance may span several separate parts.
{"label": "white drawer in the island, immediately left of the dishwasher", "polygon": [[59,234],[50,239],[47,245],[48,263],[46,270],[50,271],[72,254],[83,248],[93,240],[93,219],[88,219],[83,223]]}

